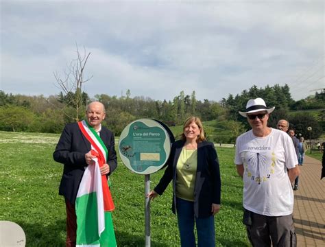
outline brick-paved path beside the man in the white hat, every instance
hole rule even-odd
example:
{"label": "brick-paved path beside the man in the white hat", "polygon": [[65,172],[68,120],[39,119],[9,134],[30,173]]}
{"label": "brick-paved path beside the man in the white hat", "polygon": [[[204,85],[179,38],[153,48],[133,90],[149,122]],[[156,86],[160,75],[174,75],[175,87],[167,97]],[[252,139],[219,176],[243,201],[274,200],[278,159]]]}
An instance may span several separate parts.
{"label": "brick-paved path beside the man in the white hat", "polygon": [[320,180],[321,169],[322,163],[309,156],[300,166],[293,211],[298,247],[325,247],[325,178]]}

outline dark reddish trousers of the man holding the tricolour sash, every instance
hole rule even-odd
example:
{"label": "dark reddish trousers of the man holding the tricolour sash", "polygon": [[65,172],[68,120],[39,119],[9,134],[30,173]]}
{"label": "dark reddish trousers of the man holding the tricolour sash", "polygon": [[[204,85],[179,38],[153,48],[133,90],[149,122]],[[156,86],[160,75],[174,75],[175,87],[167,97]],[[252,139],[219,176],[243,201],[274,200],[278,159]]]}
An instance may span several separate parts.
{"label": "dark reddish trousers of the man holding the tricolour sash", "polygon": [[77,216],[75,215],[75,205],[71,204],[67,198],[65,199],[65,207],[67,210],[67,247],[75,247],[77,237]]}

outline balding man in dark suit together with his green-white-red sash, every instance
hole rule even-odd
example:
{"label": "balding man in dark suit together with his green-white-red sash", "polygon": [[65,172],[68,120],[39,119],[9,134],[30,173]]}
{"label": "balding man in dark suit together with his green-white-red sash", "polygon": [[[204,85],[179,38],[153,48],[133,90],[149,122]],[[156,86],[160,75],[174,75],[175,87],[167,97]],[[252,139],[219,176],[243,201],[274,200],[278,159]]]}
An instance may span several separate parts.
{"label": "balding man in dark suit together with his green-white-red sash", "polygon": [[[86,121],[67,124],[61,134],[53,152],[53,158],[59,163],[63,163],[63,174],[61,178],[59,194],[64,196],[67,209],[67,241],[66,246],[76,244],[101,244],[101,246],[116,246],[114,228],[110,213],[114,204],[107,184],[107,178],[117,168],[117,153],[115,152],[114,134],[101,126],[101,121],[105,118],[105,108],[100,102],[92,102],[86,107]],[[97,176],[97,177],[96,177]],[[105,231],[101,233],[99,240],[98,226],[82,226],[82,223],[94,222],[95,216],[92,214],[91,220],[87,220],[87,209],[97,209],[97,202],[92,200],[77,201],[77,196],[82,195],[82,191],[89,188],[90,183],[86,180],[102,181],[105,219]],[[101,178],[101,179],[100,179]],[[97,180],[97,181],[98,181]],[[91,198],[81,196],[82,199]],[[77,202],[76,202],[77,201]],[[84,209],[82,202],[86,203]],[[96,203],[96,204],[95,204]],[[96,211],[97,212],[97,211]],[[83,222],[84,221],[84,222]],[[89,236],[90,234],[93,234]],[[86,243],[91,239],[91,243]],[[76,243],[77,242],[77,243]]]}

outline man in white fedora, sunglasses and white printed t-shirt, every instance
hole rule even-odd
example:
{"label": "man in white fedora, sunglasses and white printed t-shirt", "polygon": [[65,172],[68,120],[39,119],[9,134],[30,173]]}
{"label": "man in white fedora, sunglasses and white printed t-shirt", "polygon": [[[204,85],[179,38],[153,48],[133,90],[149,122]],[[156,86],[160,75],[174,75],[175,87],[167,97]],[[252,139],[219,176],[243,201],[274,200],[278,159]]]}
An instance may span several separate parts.
{"label": "man in white fedora, sunglasses and white printed t-shirt", "polygon": [[256,98],[239,111],[252,130],[237,138],[234,163],[243,178],[243,224],[258,247],[296,246],[291,183],[300,170],[289,135],[267,127],[274,108]]}

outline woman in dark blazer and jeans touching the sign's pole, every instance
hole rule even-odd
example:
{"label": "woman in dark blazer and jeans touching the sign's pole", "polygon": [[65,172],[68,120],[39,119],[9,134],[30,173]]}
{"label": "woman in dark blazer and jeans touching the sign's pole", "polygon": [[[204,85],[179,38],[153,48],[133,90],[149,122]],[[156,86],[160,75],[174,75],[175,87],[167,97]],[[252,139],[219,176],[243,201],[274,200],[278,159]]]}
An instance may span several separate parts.
{"label": "woman in dark blazer and jeans touching the sign's pole", "polygon": [[215,246],[214,215],[220,209],[219,161],[213,143],[206,141],[198,117],[184,122],[180,141],[173,143],[167,169],[150,199],[161,195],[173,180],[173,213],[178,216],[181,246]]}

